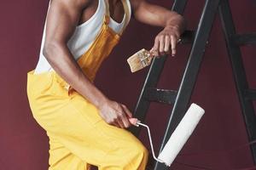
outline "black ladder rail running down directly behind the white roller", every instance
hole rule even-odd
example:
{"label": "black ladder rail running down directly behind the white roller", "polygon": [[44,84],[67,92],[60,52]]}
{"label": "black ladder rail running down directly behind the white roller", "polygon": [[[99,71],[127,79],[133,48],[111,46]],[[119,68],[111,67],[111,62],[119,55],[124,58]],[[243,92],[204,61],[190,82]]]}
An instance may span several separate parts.
{"label": "black ladder rail running down directly behind the white roller", "polygon": [[[181,121],[187,111],[189,100],[195,87],[196,77],[201,67],[201,61],[207,45],[207,39],[212,30],[212,23],[218,9],[218,3],[219,0],[207,0],[205,3],[201,14],[201,20],[196,29],[195,40],[189,54],[189,60],[183,74],[183,80],[178,89],[177,99],[173,106],[172,115],[170,116],[167,124],[166,133],[162,140],[163,142],[160,150],[163,150],[163,147],[170,138],[173,130],[177,127],[177,124]],[[168,167],[163,163],[156,162],[154,170],[166,170],[167,168]]]}

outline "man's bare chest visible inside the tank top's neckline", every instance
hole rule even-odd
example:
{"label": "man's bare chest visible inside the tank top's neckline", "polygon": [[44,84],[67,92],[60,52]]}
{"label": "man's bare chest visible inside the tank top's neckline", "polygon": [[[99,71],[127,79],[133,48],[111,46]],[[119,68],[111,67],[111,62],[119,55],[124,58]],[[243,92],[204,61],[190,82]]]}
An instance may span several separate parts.
{"label": "man's bare chest visible inside the tank top's neckline", "polygon": [[[90,20],[90,18],[96,13],[99,1],[103,2],[104,0],[91,0],[88,6],[84,8],[80,16],[79,24]],[[120,23],[123,20],[125,14],[123,3],[121,0],[108,0],[108,2],[111,18]]]}

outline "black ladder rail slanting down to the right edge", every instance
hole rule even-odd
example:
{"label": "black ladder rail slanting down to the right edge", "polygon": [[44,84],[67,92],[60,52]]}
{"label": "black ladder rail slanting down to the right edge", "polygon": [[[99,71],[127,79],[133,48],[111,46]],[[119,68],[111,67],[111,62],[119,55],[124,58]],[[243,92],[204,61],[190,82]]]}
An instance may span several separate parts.
{"label": "black ladder rail slanting down to the right edge", "polygon": [[[247,99],[248,83],[246,71],[241,59],[240,47],[232,37],[236,36],[236,28],[232,19],[230,5],[227,0],[222,0],[219,5],[219,15],[223,26],[226,46],[230,57],[230,63],[233,70],[233,77],[236,82],[236,91],[240,100],[241,112],[247,127],[249,141],[256,139],[256,116],[254,114],[253,102]],[[251,145],[253,161],[256,163],[256,144]]]}

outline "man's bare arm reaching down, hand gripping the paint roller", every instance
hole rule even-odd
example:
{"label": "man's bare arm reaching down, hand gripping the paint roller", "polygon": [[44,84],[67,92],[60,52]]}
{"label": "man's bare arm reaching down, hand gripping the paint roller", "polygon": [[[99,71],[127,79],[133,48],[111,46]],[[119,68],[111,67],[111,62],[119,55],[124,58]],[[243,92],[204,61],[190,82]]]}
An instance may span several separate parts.
{"label": "man's bare arm reaching down, hand gripping the paint roller", "polygon": [[131,112],[125,105],[108,99],[84,75],[78,63],[67,48],[67,41],[79,23],[83,9],[90,0],[52,1],[46,23],[44,56],[49,64],[79,94],[89,99],[99,109],[102,118],[117,127],[129,127],[127,116]]}

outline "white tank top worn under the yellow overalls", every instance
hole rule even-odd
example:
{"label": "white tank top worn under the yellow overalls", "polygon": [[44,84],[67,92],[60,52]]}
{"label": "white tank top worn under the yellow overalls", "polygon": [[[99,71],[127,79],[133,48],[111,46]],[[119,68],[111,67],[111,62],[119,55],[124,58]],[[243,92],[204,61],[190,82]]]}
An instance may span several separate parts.
{"label": "white tank top worn under the yellow overalls", "polygon": [[[129,0],[125,0],[128,8],[129,14],[131,17],[131,3]],[[49,8],[48,8],[49,9]],[[70,52],[73,54],[74,59],[79,59],[79,57],[84,54],[89,48],[90,45],[96,40],[96,36],[98,35],[99,31],[102,28],[102,22],[104,20],[104,16],[106,14],[106,4],[105,0],[99,0],[98,7],[96,9],[96,13],[92,15],[92,17],[87,20],[86,22],[82,23],[79,26],[76,26],[75,31],[73,32],[73,36],[67,42],[67,47],[69,48]],[[123,26],[125,25],[125,17],[123,18],[121,23],[116,22],[110,17],[109,27],[113,29],[113,31],[120,33]],[[45,41],[45,27],[46,27],[46,20],[44,23],[44,33],[41,42],[40,48],[40,55],[38,59],[38,65],[35,68],[34,74],[38,74],[44,71],[53,71],[51,65],[44,57],[43,48],[44,48],[44,41]]]}

